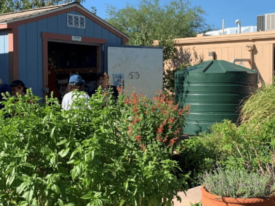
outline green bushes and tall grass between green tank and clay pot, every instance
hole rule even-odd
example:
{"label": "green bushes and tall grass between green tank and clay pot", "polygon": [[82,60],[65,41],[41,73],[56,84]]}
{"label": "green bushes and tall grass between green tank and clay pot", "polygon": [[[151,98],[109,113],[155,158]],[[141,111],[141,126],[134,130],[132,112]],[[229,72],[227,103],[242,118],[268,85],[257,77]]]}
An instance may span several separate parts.
{"label": "green bushes and tall grass between green tank and clay pot", "polygon": [[180,167],[189,172],[189,185],[199,184],[198,175],[218,164],[228,169],[258,171],[274,176],[275,170],[275,86],[258,89],[241,108],[242,124],[229,120],[211,126],[182,142]]}

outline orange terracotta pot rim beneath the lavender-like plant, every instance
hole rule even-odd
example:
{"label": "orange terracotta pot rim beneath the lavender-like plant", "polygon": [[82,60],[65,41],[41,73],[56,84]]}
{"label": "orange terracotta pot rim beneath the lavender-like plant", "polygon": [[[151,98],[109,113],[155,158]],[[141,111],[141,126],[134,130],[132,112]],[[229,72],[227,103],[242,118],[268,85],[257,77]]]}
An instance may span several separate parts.
{"label": "orange terracotta pot rim beneath the lavender-like plant", "polygon": [[205,196],[208,199],[215,200],[221,203],[230,203],[230,204],[251,204],[251,203],[260,203],[266,200],[275,201],[275,196],[266,197],[264,199],[261,198],[232,198],[232,197],[220,197],[215,194],[211,194],[210,192],[206,191],[204,187],[201,187],[201,195]]}

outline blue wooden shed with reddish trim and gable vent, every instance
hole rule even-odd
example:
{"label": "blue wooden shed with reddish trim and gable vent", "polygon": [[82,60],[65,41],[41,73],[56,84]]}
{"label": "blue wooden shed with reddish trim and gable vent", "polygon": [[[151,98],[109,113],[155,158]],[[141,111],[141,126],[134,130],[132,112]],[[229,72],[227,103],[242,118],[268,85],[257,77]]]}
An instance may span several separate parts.
{"label": "blue wooden shed with reddish trim and gable vent", "polygon": [[107,46],[128,41],[128,35],[78,3],[2,14],[0,78],[5,83],[20,79],[43,97],[50,55],[61,85],[77,73],[92,86],[96,74],[107,71]]}

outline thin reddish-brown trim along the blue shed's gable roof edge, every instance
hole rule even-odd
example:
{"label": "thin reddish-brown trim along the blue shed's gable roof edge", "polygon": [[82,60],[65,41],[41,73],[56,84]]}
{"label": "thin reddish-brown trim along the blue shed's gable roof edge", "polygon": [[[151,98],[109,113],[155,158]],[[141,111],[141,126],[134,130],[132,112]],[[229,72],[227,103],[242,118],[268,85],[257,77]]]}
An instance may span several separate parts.
{"label": "thin reddish-brown trim along the blue shed's gable roof edge", "polygon": [[53,9],[53,10],[50,10],[50,11],[46,11],[46,12],[43,12],[41,14],[36,14],[36,15],[30,15],[30,16],[26,16],[26,17],[18,17],[18,18],[15,18],[15,19],[12,19],[12,20],[7,20],[6,23],[9,24],[9,23],[13,23],[13,22],[16,22],[16,21],[22,21],[22,20],[26,20],[26,19],[31,19],[31,18],[35,18],[35,17],[38,17],[38,16],[42,16],[42,15],[47,15],[47,14],[51,14],[51,13],[54,13],[54,12],[58,12],[58,11],[61,11],[63,10],[64,8],[71,8],[71,7],[74,7],[74,6],[77,6],[78,8],[84,10],[85,12],[87,12],[89,15],[92,15],[94,18],[96,18],[97,20],[101,21],[102,23],[106,24],[107,26],[109,26],[110,28],[114,29],[115,31],[117,31],[118,33],[122,34],[124,37],[126,38],[130,38],[127,34],[123,33],[122,31],[120,31],[119,29],[115,28],[114,26],[110,25],[109,23],[107,23],[107,21],[103,20],[102,18],[98,17],[97,15],[94,15],[92,12],[90,12],[88,9],[84,8],[83,6],[81,6],[80,4],[78,3],[70,3],[68,5],[65,5],[63,7],[60,7],[60,8],[57,8],[57,9]]}

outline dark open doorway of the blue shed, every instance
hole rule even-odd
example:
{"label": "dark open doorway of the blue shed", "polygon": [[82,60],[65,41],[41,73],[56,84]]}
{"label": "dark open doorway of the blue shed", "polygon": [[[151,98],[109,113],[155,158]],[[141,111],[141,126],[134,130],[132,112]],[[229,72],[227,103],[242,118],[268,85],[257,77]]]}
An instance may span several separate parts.
{"label": "dark open doorway of the blue shed", "polygon": [[[96,76],[100,72],[100,46],[48,42],[48,58],[53,59],[58,98],[62,101],[71,75],[78,74],[85,80],[85,91],[96,88]],[[52,79],[48,78],[48,85]]]}

